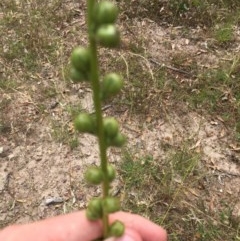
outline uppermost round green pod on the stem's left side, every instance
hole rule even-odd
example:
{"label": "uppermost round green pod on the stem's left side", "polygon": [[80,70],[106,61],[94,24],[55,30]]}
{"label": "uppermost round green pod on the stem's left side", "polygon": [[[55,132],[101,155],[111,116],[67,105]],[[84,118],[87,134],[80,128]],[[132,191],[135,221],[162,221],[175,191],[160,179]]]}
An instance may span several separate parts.
{"label": "uppermost round green pod on the stem's left side", "polygon": [[71,55],[71,64],[80,72],[88,72],[90,70],[90,51],[88,48],[76,47]]}

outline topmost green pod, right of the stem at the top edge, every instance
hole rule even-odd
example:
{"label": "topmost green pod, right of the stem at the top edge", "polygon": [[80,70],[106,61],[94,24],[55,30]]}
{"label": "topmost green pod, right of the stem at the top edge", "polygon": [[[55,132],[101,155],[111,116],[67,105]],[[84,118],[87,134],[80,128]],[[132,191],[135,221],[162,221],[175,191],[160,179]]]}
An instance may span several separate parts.
{"label": "topmost green pod, right of the stem at the top edge", "polygon": [[101,1],[95,8],[95,20],[100,24],[115,23],[118,16],[117,6],[110,1]]}

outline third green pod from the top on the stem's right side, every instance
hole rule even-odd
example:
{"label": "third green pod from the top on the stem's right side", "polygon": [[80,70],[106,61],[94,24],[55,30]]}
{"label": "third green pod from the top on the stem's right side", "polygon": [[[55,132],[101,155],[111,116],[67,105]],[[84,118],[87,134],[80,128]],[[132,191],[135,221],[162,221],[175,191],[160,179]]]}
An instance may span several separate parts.
{"label": "third green pod from the top on the stem's right side", "polygon": [[123,87],[123,79],[116,73],[107,74],[102,81],[103,99],[116,95]]}

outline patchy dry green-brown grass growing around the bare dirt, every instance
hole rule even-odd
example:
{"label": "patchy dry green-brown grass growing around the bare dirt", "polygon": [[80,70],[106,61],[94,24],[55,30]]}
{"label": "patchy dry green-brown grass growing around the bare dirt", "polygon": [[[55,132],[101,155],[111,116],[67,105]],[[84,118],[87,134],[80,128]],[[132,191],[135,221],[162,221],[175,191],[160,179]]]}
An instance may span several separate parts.
{"label": "patchy dry green-brown grass growing around the bare dirt", "polygon": [[[69,81],[67,66],[73,46],[86,44],[84,4],[77,0],[18,2],[0,3],[0,134],[14,140],[13,126],[14,130],[27,132],[25,113],[8,113],[10,104],[20,99],[20,104],[35,111],[34,121],[50,119],[49,128],[56,141],[74,148],[78,142],[71,132],[69,116],[76,112],[72,105],[75,100],[67,98],[69,92],[77,93],[78,87]],[[110,53],[101,50],[102,71],[117,70],[126,79],[121,96],[112,100],[114,110],[128,109],[128,113],[146,119],[194,110],[222,119],[233,130],[238,145],[240,60],[238,52],[231,55],[231,48],[239,44],[234,35],[239,23],[239,1],[141,1],[136,6],[136,1],[125,0],[119,4],[121,27],[126,31],[126,25],[129,27],[135,18],[150,18],[165,27],[180,23],[181,37],[186,38],[198,26],[204,29],[205,35],[200,36],[203,42],[212,40],[209,53],[225,51],[230,57],[221,60],[217,68],[205,68],[196,55],[176,51],[169,56],[167,65],[158,65],[149,58],[146,36],[129,34],[126,48]],[[171,37],[177,38],[174,33]],[[170,41],[168,44],[171,46]],[[20,98],[16,98],[17,94]],[[59,112],[54,112],[55,104],[61,107]],[[164,225],[171,240],[240,240],[239,223],[232,219],[228,203],[222,203],[218,212],[209,215],[204,207],[206,196],[194,200],[189,197],[195,195],[191,193],[195,187],[201,189],[206,178],[213,178],[200,165],[201,153],[190,146],[183,143],[177,148],[163,147],[167,155],[161,162],[151,155],[136,158],[134,149],[126,150],[119,170],[125,185],[124,208]],[[13,221],[14,217],[4,226]]]}

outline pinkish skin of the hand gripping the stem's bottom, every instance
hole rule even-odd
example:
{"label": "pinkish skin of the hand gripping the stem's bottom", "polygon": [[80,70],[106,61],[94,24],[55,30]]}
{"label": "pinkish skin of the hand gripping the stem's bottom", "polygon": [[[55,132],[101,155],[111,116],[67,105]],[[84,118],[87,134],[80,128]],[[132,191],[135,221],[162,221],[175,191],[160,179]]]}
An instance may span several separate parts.
{"label": "pinkish skin of the hand gripping the stem's bottom", "polygon": [[[167,240],[167,234],[163,228],[139,215],[117,212],[110,216],[110,222],[116,219],[125,224],[125,236],[131,237],[134,241]],[[88,221],[85,211],[80,211],[31,224],[9,226],[0,232],[0,240],[92,241],[101,237],[101,234],[101,222]],[[122,237],[117,240],[126,239]]]}

